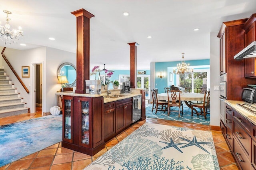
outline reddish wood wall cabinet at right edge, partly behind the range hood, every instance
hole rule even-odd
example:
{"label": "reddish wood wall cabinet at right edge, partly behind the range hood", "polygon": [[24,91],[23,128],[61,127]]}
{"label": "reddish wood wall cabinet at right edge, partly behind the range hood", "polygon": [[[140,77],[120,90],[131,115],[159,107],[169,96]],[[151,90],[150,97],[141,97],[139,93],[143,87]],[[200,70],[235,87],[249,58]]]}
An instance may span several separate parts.
{"label": "reddish wood wall cabinet at right edge, partly behind the range hood", "polygon": [[[256,14],[252,14],[245,22],[243,29],[245,30],[245,46],[256,40]],[[256,78],[256,58],[245,58],[245,74],[246,78]]]}

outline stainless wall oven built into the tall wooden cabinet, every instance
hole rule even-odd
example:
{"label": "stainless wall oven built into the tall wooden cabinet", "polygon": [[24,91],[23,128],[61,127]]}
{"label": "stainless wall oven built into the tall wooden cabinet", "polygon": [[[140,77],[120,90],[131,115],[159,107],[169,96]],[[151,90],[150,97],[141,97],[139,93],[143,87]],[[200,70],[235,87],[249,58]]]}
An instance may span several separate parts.
{"label": "stainless wall oven built into the tall wooden cabinet", "polygon": [[226,87],[227,87],[227,74],[220,76],[220,119],[226,125]]}

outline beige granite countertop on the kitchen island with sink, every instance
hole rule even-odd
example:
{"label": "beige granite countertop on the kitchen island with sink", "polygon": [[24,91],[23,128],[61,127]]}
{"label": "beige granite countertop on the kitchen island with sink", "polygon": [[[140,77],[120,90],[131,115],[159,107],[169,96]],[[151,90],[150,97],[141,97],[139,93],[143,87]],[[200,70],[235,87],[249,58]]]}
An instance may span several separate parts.
{"label": "beige granite countertop on the kitchen island with sink", "polygon": [[[63,95],[63,96],[81,96],[81,97],[104,97],[104,103],[108,103],[108,102],[114,102],[117,100],[122,100],[122,99],[126,99],[126,98],[131,98],[134,96],[139,96],[142,95],[140,93],[132,93],[132,94],[109,94],[110,97],[107,96],[107,94],[103,93],[103,94],[79,94],[79,93],[74,93],[72,91],[70,92],[56,92],[56,95]],[[118,97],[111,97],[114,95],[118,95]]]}

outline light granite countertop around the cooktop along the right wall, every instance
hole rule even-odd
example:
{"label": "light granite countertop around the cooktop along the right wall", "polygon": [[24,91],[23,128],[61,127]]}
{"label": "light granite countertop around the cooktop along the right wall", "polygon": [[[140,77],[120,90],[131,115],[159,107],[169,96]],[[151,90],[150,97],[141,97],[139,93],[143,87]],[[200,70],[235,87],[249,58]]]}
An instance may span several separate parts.
{"label": "light granite countertop around the cooktop along the right wall", "polygon": [[256,126],[256,115],[237,105],[237,103],[244,103],[244,101],[225,100],[225,103],[231,106],[234,110],[239,112],[242,116],[244,116],[247,120]]}

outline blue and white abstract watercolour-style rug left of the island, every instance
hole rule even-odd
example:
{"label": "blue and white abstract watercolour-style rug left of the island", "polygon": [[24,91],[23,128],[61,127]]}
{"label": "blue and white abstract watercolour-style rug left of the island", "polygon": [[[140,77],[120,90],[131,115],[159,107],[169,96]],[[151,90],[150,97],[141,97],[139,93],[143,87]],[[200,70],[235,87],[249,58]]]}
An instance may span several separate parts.
{"label": "blue and white abstract watercolour-style rug left of the island", "polygon": [[62,114],[0,126],[0,167],[62,140]]}

